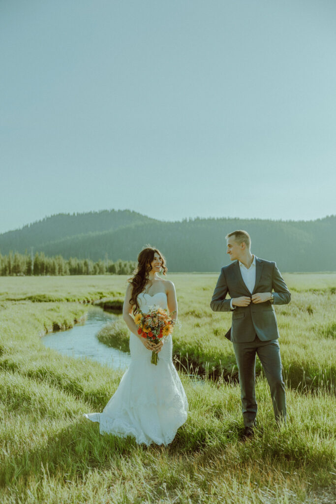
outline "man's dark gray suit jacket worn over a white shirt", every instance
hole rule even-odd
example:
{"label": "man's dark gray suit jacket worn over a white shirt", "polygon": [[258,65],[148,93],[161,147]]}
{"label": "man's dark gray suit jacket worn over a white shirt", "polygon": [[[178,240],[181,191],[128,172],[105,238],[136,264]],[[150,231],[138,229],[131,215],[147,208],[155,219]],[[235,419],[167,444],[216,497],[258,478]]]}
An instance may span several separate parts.
{"label": "man's dark gray suit jacket worn over a white shirt", "polygon": [[[272,292],[274,290],[274,304],[287,304],[291,300],[291,293],[282,278],[276,263],[256,258],[255,261],[255,286],[252,294],[259,292]],[[210,303],[213,311],[233,311],[231,341],[245,343],[253,341],[255,335],[261,341],[279,338],[279,329],[273,304],[270,301],[248,306],[237,306],[231,310],[230,297],[249,296],[251,293],[246,287],[238,261],[234,261],[222,268],[214,294]]]}

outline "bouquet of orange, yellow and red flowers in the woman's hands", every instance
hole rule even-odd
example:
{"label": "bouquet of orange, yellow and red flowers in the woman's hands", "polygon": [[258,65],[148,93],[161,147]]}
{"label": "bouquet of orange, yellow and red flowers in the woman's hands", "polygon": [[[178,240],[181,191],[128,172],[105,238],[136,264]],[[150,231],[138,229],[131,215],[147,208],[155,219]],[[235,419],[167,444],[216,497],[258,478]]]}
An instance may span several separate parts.
{"label": "bouquet of orange, yellow and red flowers in the woman's hands", "polygon": [[[148,313],[139,311],[134,319],[139,326],[138,334],[154,343],[159,343],[173,331],[173,321],[167,311],[158,306],[153,306]],[[152,352],[152,364],[157,365],[158,354]]]}

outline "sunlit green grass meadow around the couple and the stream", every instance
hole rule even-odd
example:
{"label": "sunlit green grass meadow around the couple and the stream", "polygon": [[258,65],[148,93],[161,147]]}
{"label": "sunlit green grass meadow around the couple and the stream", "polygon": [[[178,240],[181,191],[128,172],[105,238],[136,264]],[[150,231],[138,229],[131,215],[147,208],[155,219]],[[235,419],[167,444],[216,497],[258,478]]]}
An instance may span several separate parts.
{"label": "sunlit green grass meadow around the couple and the stream", "polygon": [[[336,274],[284,275],[292,301],[276,306],[290,421],[276,427],[257,379],[259,430],[243,443],[239,386],[181,380],[187,422],[169,447],[99,435],[82,414],[101,411],[121,374],[46,349],[39,336],[85,316],[88,302],[120,299],[126,278],[0,279],[0,501],[10,503],[334,502]],[[210,377],[234,373],[213,313],[217,275],[175,274],[181,327],[174,353]],[[214,368],[214,369],[213,369]]]}

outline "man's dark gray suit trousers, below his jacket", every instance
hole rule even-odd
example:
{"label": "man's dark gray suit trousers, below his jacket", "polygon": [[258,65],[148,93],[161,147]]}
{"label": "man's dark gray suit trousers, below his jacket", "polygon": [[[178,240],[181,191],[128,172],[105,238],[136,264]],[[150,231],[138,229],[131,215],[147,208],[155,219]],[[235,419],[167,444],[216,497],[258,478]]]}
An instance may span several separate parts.
{"label": "man's dark gray suit trousers, below his jacket", "polygon": [[276,420],[286,422],[286,393],[282,378],[280,346],[278,340],[233,343],[239,371],[241,405],[245,427],[255,423],[257,403],[255,399],[255,355],[257,354],[271,389]]}

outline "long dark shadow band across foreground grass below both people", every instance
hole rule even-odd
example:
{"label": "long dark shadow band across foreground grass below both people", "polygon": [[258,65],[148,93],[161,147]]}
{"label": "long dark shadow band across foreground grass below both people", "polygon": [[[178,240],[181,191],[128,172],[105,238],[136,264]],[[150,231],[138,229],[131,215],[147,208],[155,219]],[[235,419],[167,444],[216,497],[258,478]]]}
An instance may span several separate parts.
{"label": "long dark shadow band across foreground grass below both people", "polygon": [[[130,470],[146,472],[149,478],[153,471],[153,460],[170,458],[182,464],[213,467],[214,460],[227,461],[228,469],[254,467],[258,461],[268,466],[274,463],[278,470],[294,470],[306,460],[307,446],[302,443],[286,445],[282,433],[263,432],[256,429],[255,437],[242,441],[242,427],[237,421],[230,421],[220,428],[215,426],[192,426],[184,424],[177,431],[173,442],[167,446],[137,445],[131,437],[122,438],[111,434],[101,435],[98,423],[85,418],[76,419],[68,425],[52,432],[39,447],[28,446],[4,459],[0,468],[0,486],[22,486],[33,479],[39,480],[46,469],[50,478],[66,483],[85,481],[95,469],[100,473],[112,471],[115,477],[125,470],[129,462]],[[148,455],[148,456],[147,456]],[[329,457],[330,458],[330,457]],[[175,460],[173,460],[175,459]],[[328,454],[321,450],[309,453],[310,469],[329,467]],[[308,462],[308,460],[306,460]],[[309,469],[306,467],[306,469]],[[194,471],[194,469],[192,469]],[[144,474],[141,478],[144,477]]]}

